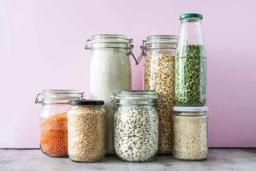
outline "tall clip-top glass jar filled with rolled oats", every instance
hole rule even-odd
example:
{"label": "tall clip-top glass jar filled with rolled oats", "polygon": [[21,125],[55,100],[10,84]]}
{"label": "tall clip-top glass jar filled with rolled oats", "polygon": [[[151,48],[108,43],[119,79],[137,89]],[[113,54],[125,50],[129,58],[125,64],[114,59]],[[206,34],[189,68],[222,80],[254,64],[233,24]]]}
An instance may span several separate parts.
{"label": "tall clip-top glass jar filled with rolled oats", "polygon": [[[178,36],[155,35],[143,40],[144,90],[156,90],[163,105],[157,106],[159,116],[158,154],[172,154],[173,106],[175,106],[175,52]],[[145,52],[144,52],[145,50]]]}

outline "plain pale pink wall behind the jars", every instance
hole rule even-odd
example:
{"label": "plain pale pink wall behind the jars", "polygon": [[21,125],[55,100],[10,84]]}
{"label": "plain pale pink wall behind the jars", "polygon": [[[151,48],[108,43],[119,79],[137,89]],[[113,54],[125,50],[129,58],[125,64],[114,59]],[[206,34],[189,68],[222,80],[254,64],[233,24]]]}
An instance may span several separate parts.
{"label": "plain pale pink wall behind the jars", "polygon": [[[177,35],[180,14],[201,13],[208,55],[210,147],[256,147],[256,3],[254,0],[0,1],[0,147],[38,148],[46,88],[78,88],[89,97],[94,34]],[[142,89],[142,63],[131,59],[133,89]]]}

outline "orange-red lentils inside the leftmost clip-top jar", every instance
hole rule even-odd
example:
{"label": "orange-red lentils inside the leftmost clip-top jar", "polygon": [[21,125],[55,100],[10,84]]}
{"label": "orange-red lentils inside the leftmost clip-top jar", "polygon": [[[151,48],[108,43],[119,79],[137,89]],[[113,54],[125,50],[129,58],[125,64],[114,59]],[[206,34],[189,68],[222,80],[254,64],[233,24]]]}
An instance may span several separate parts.
{"label": "orange-red lentils inside the leftmost clip-top jar", "polygon": [[42,119],[41,148],[51,155],[67,155],[67,112]]}

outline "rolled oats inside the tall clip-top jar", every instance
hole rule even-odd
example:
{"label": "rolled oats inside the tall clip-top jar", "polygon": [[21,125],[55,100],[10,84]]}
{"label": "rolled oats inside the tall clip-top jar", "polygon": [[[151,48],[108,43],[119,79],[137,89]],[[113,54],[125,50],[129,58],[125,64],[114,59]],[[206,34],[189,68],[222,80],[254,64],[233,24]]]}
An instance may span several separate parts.
{"label": "rolled oats inside the tall clip-top jar", "polygon": [[164,98],[157,106],[159,116],[159,154],[171,154],[173,145],[173,106],[175,105],[175,55],[147,52],[144,90],[156,90]]}

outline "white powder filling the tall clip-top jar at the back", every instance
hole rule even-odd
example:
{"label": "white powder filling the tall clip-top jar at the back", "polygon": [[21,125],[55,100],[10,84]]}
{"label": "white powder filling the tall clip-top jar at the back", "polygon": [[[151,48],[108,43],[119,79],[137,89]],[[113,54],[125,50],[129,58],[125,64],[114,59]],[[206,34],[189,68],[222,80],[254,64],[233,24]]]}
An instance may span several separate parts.
{"label": "white powder filling the tall clip-top jar at the back", "polygon": [[[120,48],[92,50],[90,61],[91,99],[104,100],[106,116],[111,111],[111,92],[131,89],[131,64],[128,51]],[[106,117],[107,119],[107,117]],[[106,150],[114,154],[114,114],[106,121]]]}

